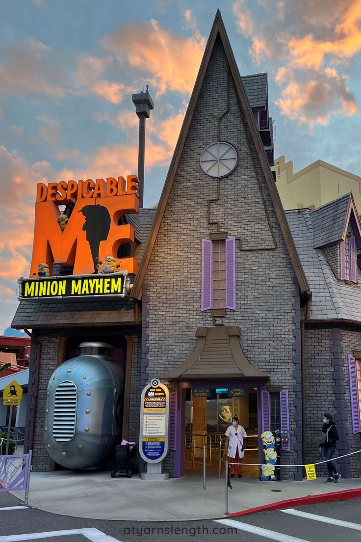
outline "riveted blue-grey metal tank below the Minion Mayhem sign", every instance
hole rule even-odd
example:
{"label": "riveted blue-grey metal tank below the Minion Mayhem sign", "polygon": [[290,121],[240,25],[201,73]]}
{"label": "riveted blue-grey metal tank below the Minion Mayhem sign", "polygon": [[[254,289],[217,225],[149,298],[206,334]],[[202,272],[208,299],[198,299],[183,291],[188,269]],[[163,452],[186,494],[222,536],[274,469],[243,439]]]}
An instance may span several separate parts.
{"label": "riveted blue-grey metal tank below the Minion Mayhem sign", "polygon": [[80,349],[57,367],[47,392],[45,446],[69,469],[99,464],[122,431],[124,373],[111,361],[113,347],[89,342]]}

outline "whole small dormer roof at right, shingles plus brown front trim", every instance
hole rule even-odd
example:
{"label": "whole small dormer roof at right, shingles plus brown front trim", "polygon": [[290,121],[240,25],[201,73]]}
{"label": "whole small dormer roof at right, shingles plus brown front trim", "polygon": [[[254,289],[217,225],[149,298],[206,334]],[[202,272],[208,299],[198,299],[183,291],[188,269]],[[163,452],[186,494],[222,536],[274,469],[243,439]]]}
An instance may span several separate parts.
{"label": "whole small dormer roof at right, shingles plus brown front trim", "polygon": [[357,246],[361,246],[361,223],[351,192],[321,205],[311,212],[310,217],[314,232],[314,248],[345,240],[350,220]]}

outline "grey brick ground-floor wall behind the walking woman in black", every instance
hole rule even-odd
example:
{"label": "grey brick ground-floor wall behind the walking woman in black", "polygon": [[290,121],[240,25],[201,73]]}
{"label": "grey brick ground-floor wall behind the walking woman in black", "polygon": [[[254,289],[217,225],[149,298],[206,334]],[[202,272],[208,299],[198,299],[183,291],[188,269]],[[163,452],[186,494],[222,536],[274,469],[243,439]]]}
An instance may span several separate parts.
{"label": "grey brick ground-floor wall behind the walking woman in black", "polygon": [[[306,462],[317,460],[322,416],[330,412],[340,440],[336,455],[361,449],[360,434],[352,434],[349,367],[347,356],[361,350],[361,331],[356,327],[312,325],[305,331],[306,364]],[[360,475],[361,454],[338,462],[343,478]],[[317,473],[327,475],[326,464]]]}

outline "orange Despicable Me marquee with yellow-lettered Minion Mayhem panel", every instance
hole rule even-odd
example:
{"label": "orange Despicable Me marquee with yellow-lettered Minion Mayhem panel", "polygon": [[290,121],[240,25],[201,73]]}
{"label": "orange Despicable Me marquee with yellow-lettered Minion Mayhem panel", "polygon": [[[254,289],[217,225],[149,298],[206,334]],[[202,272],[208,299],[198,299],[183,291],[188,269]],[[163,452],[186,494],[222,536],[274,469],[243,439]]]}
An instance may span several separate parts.
{"label": "orange Despicable Me marquee with yellow-lettered Minion Mayhem panel", "polygon": [[[139,212],[138,186],[135,175],[39,183],[30,278],[19,279],[19,299],[127,296],[137,262],[117,255],[134,242],[122,216]],[[73,274],[54,276],[54,263]]]}

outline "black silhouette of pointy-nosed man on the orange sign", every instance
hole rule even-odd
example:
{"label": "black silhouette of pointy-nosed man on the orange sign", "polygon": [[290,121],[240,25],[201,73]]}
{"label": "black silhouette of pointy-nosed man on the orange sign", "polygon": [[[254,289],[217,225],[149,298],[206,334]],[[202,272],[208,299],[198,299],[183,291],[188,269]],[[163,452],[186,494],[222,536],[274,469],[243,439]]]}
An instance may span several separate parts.
{"label": "black silhouette of pointy-nosed man on the orange sign", "polygon": [[101,241],[106,241],[110,229],[109,211],[103,205],[86,205],[80,211],[86,221],[83,230],[87,232],[87,241],[90,246],[91,257],[94,263],[94,274],[98,272],[99,246]]}

